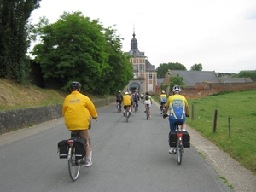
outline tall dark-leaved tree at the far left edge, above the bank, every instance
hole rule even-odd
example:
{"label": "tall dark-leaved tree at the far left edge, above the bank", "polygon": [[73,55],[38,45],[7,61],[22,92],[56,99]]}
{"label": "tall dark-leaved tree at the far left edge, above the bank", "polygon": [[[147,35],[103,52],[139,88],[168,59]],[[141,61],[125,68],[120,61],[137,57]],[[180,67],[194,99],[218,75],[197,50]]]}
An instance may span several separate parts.
{"label": "tall dark-leaved tree at the far left edge, above the bank", "polygon": [[29,73],[28,19],[41,0],[0,0],[0,78],[22,82]]}

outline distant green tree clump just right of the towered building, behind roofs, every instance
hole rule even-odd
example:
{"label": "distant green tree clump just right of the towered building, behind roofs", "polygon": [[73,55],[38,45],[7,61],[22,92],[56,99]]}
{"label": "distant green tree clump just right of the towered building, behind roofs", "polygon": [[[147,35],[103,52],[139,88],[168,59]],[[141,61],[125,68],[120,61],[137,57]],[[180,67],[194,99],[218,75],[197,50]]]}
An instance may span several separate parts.
{"label": "distant green tree clump just right of the towered building, behind roofs", "polygon": [[178,62],[169,62],[169,63],[161,63],[159,67],[157,67],[157,78],[165,78],[166,73],[170,70],[183,70],[187,71],[186,67]]}

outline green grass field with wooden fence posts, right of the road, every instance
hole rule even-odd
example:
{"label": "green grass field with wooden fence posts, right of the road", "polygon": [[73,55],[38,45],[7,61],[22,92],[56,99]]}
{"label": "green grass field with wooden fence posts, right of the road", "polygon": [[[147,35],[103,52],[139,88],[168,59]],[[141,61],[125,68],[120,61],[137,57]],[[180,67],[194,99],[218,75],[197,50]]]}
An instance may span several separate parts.
{"label": "green grass field with wooden fence posts, right of the road", "polygon": [[[256,90],[188,99],[187,124],[256,174]],[[192,104],[195,118],[191,118]],[[213,133],[217,110],[216,132]],[[229,117],[230,137],[229,137]]]}

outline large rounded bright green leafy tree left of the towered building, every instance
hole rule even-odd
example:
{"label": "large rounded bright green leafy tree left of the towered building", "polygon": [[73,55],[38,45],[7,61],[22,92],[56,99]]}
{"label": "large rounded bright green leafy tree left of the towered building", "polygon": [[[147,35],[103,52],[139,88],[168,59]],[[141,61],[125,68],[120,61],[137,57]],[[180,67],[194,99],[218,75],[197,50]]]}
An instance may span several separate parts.
{"label": "large rounded bright green leafy tree left of the towered building", "polygon": [[32,55],[42,68],[47,87],[67,90],[77,80],[84,91],[104,95],[125,87],[132,78],[120,38],[99,20],[90,20],[81,12],[64,12],[53,24],[42,18],[35,29],[42,40]]}

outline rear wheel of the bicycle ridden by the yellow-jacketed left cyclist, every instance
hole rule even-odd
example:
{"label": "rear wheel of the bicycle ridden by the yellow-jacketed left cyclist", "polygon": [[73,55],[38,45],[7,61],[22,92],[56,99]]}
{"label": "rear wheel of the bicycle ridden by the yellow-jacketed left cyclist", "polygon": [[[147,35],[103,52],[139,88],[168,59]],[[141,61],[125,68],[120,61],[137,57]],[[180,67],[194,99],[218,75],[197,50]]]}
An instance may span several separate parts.
{"label": "rear wheel of the bicycle ridden by the yellow-jacketed left cyclist", "polygon": [[70,159],[67,160],[67,166],[68,166],[68,173],[69,176],[73,181],[76,181],[79,177],[79,172],[80,172],[80,166],[75,165],[76,158],[75,158],[75,151],[74,148],[71,150],[71,156]]}

